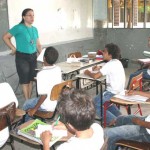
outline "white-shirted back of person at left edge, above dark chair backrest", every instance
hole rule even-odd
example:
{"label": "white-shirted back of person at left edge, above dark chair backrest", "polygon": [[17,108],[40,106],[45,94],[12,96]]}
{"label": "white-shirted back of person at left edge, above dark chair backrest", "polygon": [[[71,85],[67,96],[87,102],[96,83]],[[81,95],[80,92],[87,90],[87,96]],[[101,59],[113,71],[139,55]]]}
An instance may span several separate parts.
{"label": "white-shirted back of person at left edge, above dark chair backrest", "polygon": [[11,102],[15,102],[16,107],[18,107],[18,100],[16,95],[8,83],[0,83],[0,91],[0,108],[8,105]]}

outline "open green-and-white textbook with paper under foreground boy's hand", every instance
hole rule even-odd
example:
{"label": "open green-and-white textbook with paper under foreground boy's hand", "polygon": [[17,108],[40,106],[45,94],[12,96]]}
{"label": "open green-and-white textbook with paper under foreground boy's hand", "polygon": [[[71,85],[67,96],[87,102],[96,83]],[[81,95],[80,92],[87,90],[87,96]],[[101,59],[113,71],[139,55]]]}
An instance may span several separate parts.
{"label": "open green-and-white textbook with paper under foreground boy's hand", "polygon": [[42,144],[42,141],[40,139],[40,134],[46,130],[49,130],[52,133],[52,139],[49,143],[49,146],[52,146],[63,136],[67,136],[67,130],[56,130],[56,129],[53,130],[51,125],[48,125],[38,119],[33,121],[28,126],[19,129],[17,133],[18,135],[22,135],[30,140]]}

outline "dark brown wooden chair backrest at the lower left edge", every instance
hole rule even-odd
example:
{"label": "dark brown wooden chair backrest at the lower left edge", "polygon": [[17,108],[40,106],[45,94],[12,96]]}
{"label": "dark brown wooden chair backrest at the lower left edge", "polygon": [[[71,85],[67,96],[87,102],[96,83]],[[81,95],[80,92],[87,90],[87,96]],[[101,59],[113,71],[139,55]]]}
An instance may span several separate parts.
{"label": "dark brown wooden chair backrest at the lower left edge", "polygon": [[0,109],[0,131],[6,127],[11,127],[11,123],[15,119],[16,103],[11,102]]}

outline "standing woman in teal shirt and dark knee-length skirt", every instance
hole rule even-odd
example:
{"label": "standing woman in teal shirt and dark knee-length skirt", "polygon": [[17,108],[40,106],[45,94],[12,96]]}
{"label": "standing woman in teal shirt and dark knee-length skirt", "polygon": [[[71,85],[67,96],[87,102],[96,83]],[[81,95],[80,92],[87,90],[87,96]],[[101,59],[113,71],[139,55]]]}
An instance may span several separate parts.
{"label": "standing woman in teal shirt and dark knee-length skirt", "polygon": [[[32,26],[33,22],[34,11],[27,8],[22,12],[21,22],[3,35],[4,42],[12,50],[11,54],[16,54],[16,69],[26,100],[31,98],[32,84],[36,76],[37,50],[41,52],[38,31]],[[13,36],[16,40],[16,47],[11,42]]]}

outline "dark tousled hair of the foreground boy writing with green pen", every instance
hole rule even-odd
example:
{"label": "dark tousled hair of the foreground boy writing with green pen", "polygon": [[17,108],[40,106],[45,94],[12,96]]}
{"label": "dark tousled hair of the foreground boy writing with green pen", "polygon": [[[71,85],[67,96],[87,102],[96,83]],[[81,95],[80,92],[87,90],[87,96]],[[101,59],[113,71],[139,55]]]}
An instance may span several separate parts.
{"label": "dark tousled hair of the foreground boy writing with green pen", "polygon": [[89,129],[95,119],[93,99],[81,89],[65,89],[60,94],[57,110],[63,122],[78,131]]}

